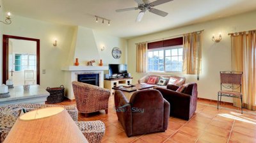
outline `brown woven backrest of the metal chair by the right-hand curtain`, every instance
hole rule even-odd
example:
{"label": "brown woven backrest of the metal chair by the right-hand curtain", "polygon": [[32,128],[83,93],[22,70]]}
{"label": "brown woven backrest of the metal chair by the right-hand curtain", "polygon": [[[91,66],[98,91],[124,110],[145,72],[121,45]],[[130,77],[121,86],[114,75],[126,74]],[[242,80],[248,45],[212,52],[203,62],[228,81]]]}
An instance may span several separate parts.
{"label": "brown woven backrest of the metal chair by the right-hand curtain", "polygon": [[232,90],[240,89],[241,91],[242,75],[243,75],[243,72],[235,72],[235,71],[220,72],[221,90],[222,90],[222,87],[225,87],[225,89],[232,89]]}

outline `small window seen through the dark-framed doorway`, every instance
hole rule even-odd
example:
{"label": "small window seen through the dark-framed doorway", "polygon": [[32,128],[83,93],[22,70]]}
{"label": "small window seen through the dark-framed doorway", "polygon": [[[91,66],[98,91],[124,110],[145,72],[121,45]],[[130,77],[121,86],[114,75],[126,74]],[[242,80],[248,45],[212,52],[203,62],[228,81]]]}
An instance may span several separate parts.
{"label": "small window seen through the dark-framed doorway", "polygon": [[15,71],[36,70],[36,55],[15,54]]}

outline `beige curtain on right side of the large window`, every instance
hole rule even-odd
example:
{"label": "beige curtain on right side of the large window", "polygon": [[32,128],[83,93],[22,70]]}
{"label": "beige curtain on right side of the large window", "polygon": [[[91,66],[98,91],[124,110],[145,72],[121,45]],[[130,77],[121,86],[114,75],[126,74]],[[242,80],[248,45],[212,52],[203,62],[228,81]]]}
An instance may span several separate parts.
{"label": "beige curtain on right side of the large window", "polygon": [[182,73],[199,75],[201,72],[202,44],[201,33],[188,33],[183,37]]}

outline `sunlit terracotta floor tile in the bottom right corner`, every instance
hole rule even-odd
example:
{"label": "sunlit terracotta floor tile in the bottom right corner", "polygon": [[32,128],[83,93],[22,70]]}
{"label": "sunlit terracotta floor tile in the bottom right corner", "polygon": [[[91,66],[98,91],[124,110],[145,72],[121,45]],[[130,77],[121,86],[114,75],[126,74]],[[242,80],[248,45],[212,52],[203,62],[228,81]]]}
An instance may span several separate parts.
{"label": "sunlit terracotta floor tile in the bottom right corner", "polygon": [[243,135],[242,133],[232,132],[230,136],[230,142],[255,143],[256,138]]}

